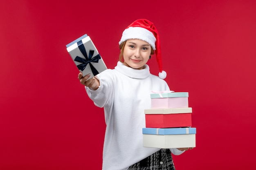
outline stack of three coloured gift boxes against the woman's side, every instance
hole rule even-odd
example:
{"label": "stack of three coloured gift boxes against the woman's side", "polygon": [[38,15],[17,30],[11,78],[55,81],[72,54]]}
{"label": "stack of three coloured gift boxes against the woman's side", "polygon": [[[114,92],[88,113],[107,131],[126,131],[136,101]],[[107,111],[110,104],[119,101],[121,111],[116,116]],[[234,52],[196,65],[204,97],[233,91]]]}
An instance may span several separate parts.
{"label": "stack of three coloured gift boxes against the woman's side", "polygon": [[188,92],[153,92],[151,109],[144,110],[146,128],[143,146],[151,148],[193,148],[196,128],[192,128],[192,108]]}

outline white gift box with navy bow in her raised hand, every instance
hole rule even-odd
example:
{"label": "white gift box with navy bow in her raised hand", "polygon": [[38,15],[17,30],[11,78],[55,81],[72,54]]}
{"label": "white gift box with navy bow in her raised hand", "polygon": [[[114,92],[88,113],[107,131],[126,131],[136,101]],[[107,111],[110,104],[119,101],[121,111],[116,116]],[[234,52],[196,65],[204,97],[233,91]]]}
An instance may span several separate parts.
{"label": "white gift box with navy bow in her raised hand", "polygon": [[107,69],[97,48],[87,34],[67,44],[66,48],[83,76],[91,74],[88,79]]}

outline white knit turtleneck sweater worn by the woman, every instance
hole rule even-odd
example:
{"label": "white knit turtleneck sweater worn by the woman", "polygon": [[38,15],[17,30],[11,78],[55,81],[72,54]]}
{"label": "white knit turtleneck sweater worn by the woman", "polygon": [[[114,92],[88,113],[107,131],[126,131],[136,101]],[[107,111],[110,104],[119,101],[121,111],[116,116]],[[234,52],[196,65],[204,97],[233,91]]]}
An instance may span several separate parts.
{"label": "white knit turtleneck sweater worn by the woman", "polygon": [[[144,109],[151,108],[151,91],[170,90],[167,83],[150,74],[149,67],[137,70],[117,63],[97,75],[96,91],[85,87],[98,107],[104,107],[106,134],[102,170],[127,170],[160,148],[143,147]],[[170,149],[174,155],[183,153]]]}

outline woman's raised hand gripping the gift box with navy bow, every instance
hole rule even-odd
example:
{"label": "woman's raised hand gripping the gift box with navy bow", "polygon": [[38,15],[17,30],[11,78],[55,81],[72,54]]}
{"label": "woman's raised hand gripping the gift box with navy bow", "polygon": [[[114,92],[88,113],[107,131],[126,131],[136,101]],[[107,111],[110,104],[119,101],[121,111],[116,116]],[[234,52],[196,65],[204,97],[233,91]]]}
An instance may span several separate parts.
{"label": "woman's raised hand gripping the gift box with navy bow", "polygon": [[80,83],[92,88],[94,90],[97,90],[99,88],[99,80],[96,79],[95,77],[92,77],[91,79],[88,79],[90,77],[91,74],[85,75],[83,77],[83,73],[79,73],[78,74],[78,79],[80,80]]}

